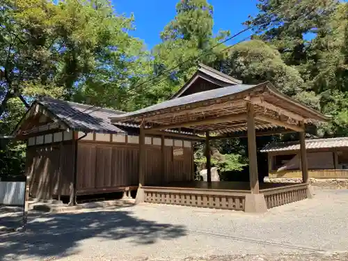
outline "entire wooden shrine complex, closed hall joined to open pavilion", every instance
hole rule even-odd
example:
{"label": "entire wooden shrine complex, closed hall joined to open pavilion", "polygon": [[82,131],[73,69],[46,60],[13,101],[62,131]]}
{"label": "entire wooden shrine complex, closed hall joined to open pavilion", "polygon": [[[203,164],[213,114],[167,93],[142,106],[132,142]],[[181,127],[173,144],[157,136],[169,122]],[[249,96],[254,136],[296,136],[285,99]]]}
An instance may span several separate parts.
{"label": "entire wooden shrine complex, closed hall joined to open pavilion", "polygon": [[[31,193],[44,198],[137,189],[136,203],[264,212],[310,197],[305,125],[329,118],[279,93],[200,65],[171,100],[124,113],[45,98],[14,135],[28,141]],[[303,184],[259,184],[255,137],[299,132]],[[250,182],[212,182],[211,139],[248,137]],[[193,175],[192,141],[205,141],[207,182]]]}

